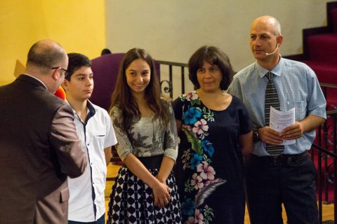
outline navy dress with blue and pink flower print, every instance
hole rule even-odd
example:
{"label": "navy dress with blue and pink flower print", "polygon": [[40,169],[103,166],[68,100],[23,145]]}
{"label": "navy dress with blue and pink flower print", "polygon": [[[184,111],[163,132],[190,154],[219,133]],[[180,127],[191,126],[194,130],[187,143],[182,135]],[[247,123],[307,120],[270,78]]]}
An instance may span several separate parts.
{"label": "navy dress with blue and pink flower print", "polygon": [[244,223],[244,176],[241,134],[252,130],[244,104],[232,97],[223,111],[213,111],[196,91],[173,103],[182,122],[176,165],[183,223]]}

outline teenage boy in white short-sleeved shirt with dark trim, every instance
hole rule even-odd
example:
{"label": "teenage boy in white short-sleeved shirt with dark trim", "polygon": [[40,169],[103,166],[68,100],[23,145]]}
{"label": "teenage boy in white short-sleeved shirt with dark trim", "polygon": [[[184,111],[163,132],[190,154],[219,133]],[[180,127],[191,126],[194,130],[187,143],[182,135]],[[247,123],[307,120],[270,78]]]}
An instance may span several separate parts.
{"label": "teenage boy in white short-sleeved shirt with dark trim", "polygon": [[74,123],[88,155],[88,166],[81,176],[68,178],[70,200],[68,223],[105,223],[105,180],[111,158],[111,146],[117,144],[110,116],[105,109],[92,104],[91,60],[70,53],[67,76],[62,83],[67,102],[74,110]]}

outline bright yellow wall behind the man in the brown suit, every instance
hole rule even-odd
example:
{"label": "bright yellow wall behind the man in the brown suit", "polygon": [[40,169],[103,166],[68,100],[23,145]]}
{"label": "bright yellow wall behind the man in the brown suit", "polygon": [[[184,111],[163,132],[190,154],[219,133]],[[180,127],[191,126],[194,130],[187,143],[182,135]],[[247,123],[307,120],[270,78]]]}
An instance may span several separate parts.
{"label": "bright yellow wall behind the man in the brown suit", "polygon": [[106,47],[104,0],[0,1],[0,85],[14,80],[16,59],[44,38],[90,58]]}

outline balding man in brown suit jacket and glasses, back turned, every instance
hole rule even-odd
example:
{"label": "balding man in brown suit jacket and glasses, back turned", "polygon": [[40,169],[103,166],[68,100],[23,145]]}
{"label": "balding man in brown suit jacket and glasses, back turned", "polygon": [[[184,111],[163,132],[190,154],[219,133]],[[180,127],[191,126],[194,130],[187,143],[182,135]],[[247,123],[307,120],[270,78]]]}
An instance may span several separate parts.
{"label": "balding man in brown suit jacket and glasses, back turned", "polygon": [[27,69],[0,87],[0,223],[67,223],[67,176],[87,158],[68,104],[53,95],[68,58],[54,41],[32,45]]}

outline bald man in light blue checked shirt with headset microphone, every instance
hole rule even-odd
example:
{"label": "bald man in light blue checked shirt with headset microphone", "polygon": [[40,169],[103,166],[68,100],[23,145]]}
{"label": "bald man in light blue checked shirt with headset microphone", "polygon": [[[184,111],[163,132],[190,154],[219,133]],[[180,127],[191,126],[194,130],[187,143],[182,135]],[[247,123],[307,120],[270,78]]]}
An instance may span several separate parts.
{"label": "bald man in light blue checked shirt with headset microphone", "polygon": [[[312,69],[279,55],[282,41],[275,18],[265,15],[254,20],[250,45],[256,62],[239,71],[227,90],[242,99],[254,124],[254,149],[245,161],[249,216],[253,224],[281,224],[283,203],[289,224],[317,223],[315,165],[308,150],[315,129],[326,119],[326,100]],[[266,125],[267,73],[272,73],[280,110],[296,110],[296,122],[282,132]],[[279,147],[291,139],[296,143]]]}

